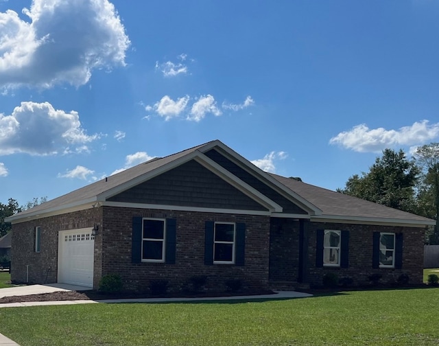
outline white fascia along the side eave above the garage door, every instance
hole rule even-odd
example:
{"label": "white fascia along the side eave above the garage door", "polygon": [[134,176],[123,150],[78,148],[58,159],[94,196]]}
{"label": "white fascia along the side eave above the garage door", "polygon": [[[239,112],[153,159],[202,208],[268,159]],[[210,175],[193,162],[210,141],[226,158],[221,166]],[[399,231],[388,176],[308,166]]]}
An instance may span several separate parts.
{"label": "white fascia along the side eave above the garage door", "polygon": [[56,216],[60,214],[72,213],[73,211],[80,211],[84,209],[91,209],[96,206],[96,198],[88,198],[86,200],[78,200],[77,202],[69,203],[68,205],[60,205],[49,209],[43,209],[27,213],[25,215],[15,214],[5,218],[5,222],[17,224],[20,222],[27,222],[38,218],[47,218],[49,216]]}

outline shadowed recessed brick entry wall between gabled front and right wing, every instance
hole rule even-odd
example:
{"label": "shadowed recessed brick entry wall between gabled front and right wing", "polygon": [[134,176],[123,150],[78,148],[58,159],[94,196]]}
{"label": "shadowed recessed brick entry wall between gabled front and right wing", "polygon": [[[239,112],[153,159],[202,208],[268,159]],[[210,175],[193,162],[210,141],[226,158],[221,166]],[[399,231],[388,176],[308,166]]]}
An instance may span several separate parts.
{"label": "shadowed recessed brick entry wall between gabled front and right wing", "polygon": [[299,222],[283,218],[272,218],[270,226],[270,281],[283,286],[298,281],[299,266]]}

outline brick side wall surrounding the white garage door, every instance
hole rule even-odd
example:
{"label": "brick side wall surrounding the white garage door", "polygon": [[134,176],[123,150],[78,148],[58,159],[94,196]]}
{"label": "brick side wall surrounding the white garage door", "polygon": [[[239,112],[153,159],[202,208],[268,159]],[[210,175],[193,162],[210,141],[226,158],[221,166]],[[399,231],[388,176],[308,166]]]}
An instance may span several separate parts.
{"label": "brick side wall surrounding the white garage door", "polygon": [[[29,283],[52,284],[58,275],[58,231],[93,227],[102,224],[102,208],[75,211],[12,225],[11,279],[26,282],[29,265]],[[34,228],[41,227],[40,253],[34,252]],[[101,275],[99,235],[95,238],[95,286]]]}

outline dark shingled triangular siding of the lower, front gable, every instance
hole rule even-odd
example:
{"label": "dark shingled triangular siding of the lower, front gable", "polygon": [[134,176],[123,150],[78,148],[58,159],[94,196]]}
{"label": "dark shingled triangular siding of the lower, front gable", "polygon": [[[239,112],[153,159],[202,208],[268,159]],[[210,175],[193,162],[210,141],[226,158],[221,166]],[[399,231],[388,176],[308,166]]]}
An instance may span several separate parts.
{"label": "dark shingled triangular siding of the lower, front gable", "polygon": [[184,163],[108,200],[215,209],[267,210],[196,161]]}

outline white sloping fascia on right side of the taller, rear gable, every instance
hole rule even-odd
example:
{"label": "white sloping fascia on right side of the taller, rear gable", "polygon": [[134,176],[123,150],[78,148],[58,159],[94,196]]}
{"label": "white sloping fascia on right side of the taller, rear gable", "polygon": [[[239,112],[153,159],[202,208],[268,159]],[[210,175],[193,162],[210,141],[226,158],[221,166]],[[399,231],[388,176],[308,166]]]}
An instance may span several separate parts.
{"label": "white sloping fascia on right side of the taller, rear gable", "polygon": [[255,166],[253,163],[248,161],[245,157],[242,157],[240,154],[235,152],[234,150],[228,148],[224,143],[221,141],[213,141],[211,143],[208,143],[206,146],[203,146],[202,148],[198,149],[201,152],[207,152],[215,147],[219,147],[224,152],[229,154],[231,157],[233,157],[235,160],[239,161],[244,165],[244,170],[246,170],[248,173],[252,174],[255,178],[259,179],[262,183],[265,183],[260,177],[263,176],[267,181],[269,181],[274,187],[276,187],[276,192],[287,198],[288,200],[291,200],[294,203],[298,203],[300,207],[303,207],[308,212],[311,211],[311,214],[313,215],[321,215],[323,211],[316,207],[316,205],[313,205],[311,202],[303,198],[302,196],[296,194],[296,192],[292,191],[291,189],[288,189],[285,185],[279,183],[269,174],[265,173],[263,170]]}

